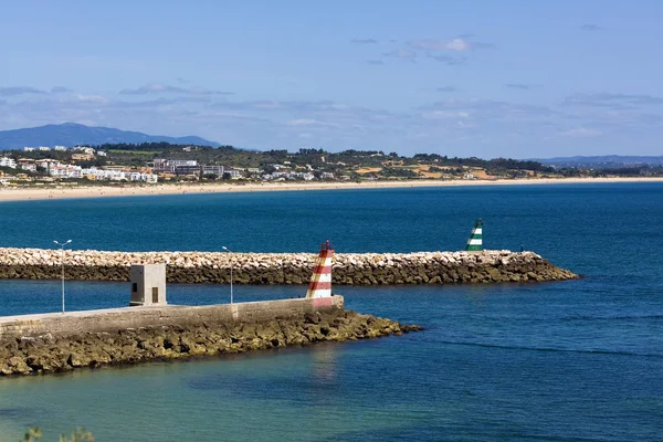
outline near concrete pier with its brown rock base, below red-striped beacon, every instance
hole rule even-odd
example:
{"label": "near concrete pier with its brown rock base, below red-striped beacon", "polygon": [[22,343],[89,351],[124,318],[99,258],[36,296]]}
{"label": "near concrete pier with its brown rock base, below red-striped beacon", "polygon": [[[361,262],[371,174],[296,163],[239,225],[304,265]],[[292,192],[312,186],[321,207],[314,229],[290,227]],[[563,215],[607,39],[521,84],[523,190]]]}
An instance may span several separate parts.
{"label": "near concrete pier with its brown rock base, below red-striped beacon", "polygon": [[377,338],[422,329],[330,302],[282,299],[0,318],[0,376]]}

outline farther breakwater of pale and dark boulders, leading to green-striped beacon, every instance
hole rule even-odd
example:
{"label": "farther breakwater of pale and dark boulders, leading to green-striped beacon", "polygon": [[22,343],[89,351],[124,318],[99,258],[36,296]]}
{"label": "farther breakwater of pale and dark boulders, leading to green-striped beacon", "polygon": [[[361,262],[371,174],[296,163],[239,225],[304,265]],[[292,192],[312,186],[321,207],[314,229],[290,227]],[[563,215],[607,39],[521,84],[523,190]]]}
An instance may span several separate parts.
{"label": "farther breakwater of pale and dark boulders, leading to green-striped beacon", "polygon": [[[67,250],[65,277],[128,281],[131,264],[166,263],[171,283],[306,284],[315,254],[101,252]],[[0,249],[0,278],[60,277],[60,251]],[[533,252],[338,253],[334,283],[343,285],[543,282],[577,278]]]}

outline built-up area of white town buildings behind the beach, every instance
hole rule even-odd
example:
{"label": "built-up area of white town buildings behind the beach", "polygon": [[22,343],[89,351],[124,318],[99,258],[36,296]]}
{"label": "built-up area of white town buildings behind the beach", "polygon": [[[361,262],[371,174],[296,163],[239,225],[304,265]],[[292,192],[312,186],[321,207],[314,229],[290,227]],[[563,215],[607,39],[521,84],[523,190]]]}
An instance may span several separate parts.
{"label": "built-up area of white town buildings behind the beach", "polygon": [[[181,150],[179,150],[181,149]],[[148,183],[180,182],[180,181],[252,181],[252,182],[278,182],[278,181],[349,181],[352,179],[376,180],[383,177],[377,165],[398,167],[398,161],[391,158],[387,161],[376,161],[385,157],[382,152],[358,152],[358,158],[370,158],[367,165],[352,165],[337,161],[325,164],[320,155],[319,161],[323,167],[297,161],[305,152],[294,154],[290,160],[283,159],[278,162],[263,162],[257,167],[249,167],[246,161],[240,160],[240,165],[201,162],[198,159],[187,158],[187,154],[201,149],[198,146],[178,146],[177,151],[171,150],[169,158],[149,158],[144,164],[126,161],[114,158],[114,152],[91,146],[41,146],[24,147],[21,151],[9,151],[0,157],[0,183],[3,186],[29,186],[31,183],[49,183],[61,181],[85,181],[88,183],[98,181]],[[175,149],[173,149],[175,150]],[[173,155],[175,154],[175,155]],[[144,157],[144,156],[143,156]],[[177,157],[177,158],[172,158]],[[190,155],[189,155],[190,157]],[[314,161],[312,161],[314,162]],[[377,164],[376,164],[377,162]],[[402,161],[401,165],[402,166]],[[352,170],[354,169],[354,170]],[[402,168],[400,173],[393,178],[463,178],[475,179],[471,168],[442,169]],[[476,169],[474,169],[476,170]],[[440,173],[435,173],[439,171]],[[392,173],[393,175],[393,173]]]}

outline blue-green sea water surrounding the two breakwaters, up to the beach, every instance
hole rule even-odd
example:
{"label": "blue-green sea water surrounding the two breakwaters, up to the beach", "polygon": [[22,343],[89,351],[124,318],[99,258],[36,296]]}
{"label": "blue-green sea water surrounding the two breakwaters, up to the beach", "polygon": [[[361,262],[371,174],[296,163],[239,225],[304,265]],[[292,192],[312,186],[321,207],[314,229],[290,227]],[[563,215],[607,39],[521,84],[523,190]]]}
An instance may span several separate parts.
{"label": "blue-green sea water surrounding the two breakwaters, up to the beach", "polygon": [[[0,441],[39,424],[99,441],[661,441],[663,183],[251,192],[0,203],[0,246],[317,252],[527,250],[586,277],[344,287],[423,333],[233,357],[0,378]],[[236,286],[236,301],[302,295]],[[71,309],[126,284],[69,282]],[[169,301],[228,302],[224,285]],[[54,312],[60,283],[0,281],[0,315]]]}

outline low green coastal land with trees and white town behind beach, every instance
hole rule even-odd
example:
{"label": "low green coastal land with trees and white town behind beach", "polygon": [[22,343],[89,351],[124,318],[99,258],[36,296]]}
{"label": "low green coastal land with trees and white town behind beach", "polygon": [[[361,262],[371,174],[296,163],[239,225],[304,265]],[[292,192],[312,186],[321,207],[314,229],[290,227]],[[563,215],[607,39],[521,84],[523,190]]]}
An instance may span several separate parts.
{"label": "low green coastal land with trees and white town behind beach", "polygon": [[[645,170],[651,173],[651,170]],[[614,176],[646,175],[612,170]],[[655,172],[655,170],[654,170]],[[156,185],[180,182],[369,182],[402,180],[492,181],[600,177],[606,171],[556,168],[532,160],[449,158],[438,154],[412,157],[376,150],[323,149],[254,151],[232,146],[108,144],[40,146],[0,155],[0,185]]]}

